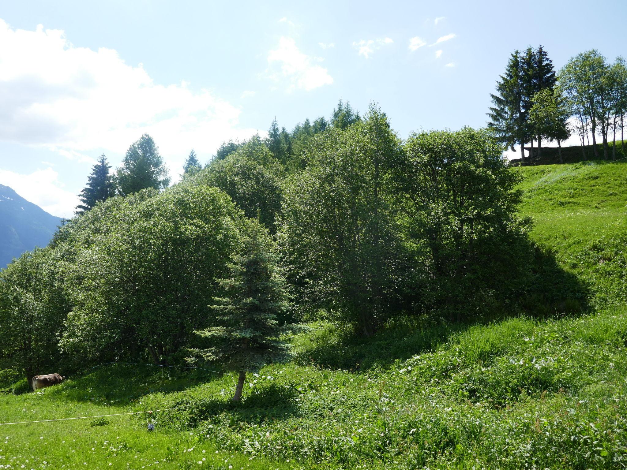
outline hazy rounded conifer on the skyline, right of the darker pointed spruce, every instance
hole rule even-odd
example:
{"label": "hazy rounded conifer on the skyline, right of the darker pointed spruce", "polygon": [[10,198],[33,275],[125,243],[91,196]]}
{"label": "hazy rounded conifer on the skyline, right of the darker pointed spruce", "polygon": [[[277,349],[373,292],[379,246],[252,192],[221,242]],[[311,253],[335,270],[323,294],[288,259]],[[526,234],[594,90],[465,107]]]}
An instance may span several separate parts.
{"label": "hazy rounded conifer on the skyline, right of the darker pointed spruce", "polygon": [[122,196],[145,188],[164,189],[170,184],[159,147],[148,134],[130,145],[122,167],[117,169],[118,191]]}

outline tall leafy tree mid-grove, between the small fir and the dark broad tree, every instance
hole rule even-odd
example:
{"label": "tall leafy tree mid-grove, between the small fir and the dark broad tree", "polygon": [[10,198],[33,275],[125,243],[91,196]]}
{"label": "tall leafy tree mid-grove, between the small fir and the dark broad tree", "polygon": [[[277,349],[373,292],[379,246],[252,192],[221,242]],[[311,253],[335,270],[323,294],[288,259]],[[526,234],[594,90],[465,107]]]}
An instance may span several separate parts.
{"label": "tall leafy tree mid-grove, between the small fir and the dark broad tree", "polygon": [[398,238],[387,174],[399,140],[371,105],[363,122],[310,141],[286,188],[282,241],[304,308],[325,308],[370,336],[398,300]]}

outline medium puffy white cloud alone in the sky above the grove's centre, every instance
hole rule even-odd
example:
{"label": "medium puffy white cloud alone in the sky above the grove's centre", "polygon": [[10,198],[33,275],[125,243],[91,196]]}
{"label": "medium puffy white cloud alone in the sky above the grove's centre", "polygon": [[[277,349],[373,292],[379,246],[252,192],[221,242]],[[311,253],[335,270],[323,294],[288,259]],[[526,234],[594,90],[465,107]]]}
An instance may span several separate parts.
{"label": "medium puffy white cloud alone in the sky above the grove's centre", "polygon": [[326,68],[315,64],[317,61],[322,61],[322,58],[302,53],[294,39],[283,36],[279,39],[278,48],[268,53],[270,67],[266,75],[277,83],[287,81],[287,91],[295,88],[309,91],[330,85],[333,83],[332,76]]}

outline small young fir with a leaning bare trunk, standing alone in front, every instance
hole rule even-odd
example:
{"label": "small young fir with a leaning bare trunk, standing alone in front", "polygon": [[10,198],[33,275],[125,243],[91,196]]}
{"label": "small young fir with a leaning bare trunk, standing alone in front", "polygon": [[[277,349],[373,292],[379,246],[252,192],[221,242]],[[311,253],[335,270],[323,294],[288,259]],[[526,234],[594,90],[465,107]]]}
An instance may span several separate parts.
{"label": "small young fir with a leaning bare trunk, standing alone in front", "polygon": [[218,279],[227,297],[214,298],[214,326],[198,333],[214,342],[208,349],[192,350],[196,357],[217,361],[238,372],[233,401],[241,398],[246,372],[288,357],[288,345],[279,340],[282,317],[289,308],[286,281],[277,267],[277,248],[263,225],[251,219],[241,253],[234,256],[231,276]]}

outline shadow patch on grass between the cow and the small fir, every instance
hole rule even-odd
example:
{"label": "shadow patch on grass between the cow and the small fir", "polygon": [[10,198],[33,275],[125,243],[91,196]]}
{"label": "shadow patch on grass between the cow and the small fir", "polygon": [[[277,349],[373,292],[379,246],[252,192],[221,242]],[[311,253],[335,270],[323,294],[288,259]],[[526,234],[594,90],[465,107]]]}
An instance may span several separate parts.
{"label": "shadow patch on grass between the cow and the small fir", "polygon": [[80,377],[69,377],[62,387],[51,388],[48,393],[76,402],[125,405],[147,394],[179,392],[217,377],[219,374],[201,370],[112,364]]}

